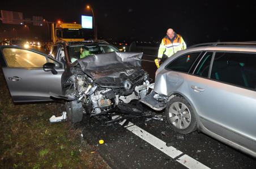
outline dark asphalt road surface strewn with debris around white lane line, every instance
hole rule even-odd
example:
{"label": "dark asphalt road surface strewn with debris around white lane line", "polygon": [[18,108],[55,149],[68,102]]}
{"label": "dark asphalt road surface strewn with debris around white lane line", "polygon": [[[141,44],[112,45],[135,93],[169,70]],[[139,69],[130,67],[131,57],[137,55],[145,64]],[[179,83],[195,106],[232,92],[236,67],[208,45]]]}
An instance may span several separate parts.
{"label": "dark asphalt road surface strewn with debris around white lane line", "polygon": [[[153,61],[155,57],[143,56],[143,59]],[[143,61],[142,65],[153,81],[155,64]],[[147,106],[144,107],[152,111]],[[160,114],[164,117],[164,113]],[[172,131],[165,117],[164,121],[152,119],[146,122],[145,117],[140,117],[130,119],[130,122],[207,167],[256,168],[256,159],[210,136],[198,132],[180,135]],[[99,152],[112,168],[186,168],[176,161],[178,157],[170,158],[118,123],[104,126],[101,121],[87,117],[80,127],[83,128],[84,140],[93,145],[95,151]],[[104,140],[104,144],[99,144],[100,139]]]}

